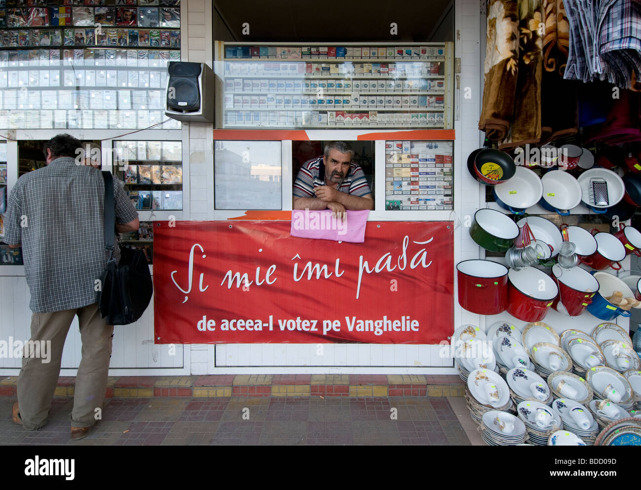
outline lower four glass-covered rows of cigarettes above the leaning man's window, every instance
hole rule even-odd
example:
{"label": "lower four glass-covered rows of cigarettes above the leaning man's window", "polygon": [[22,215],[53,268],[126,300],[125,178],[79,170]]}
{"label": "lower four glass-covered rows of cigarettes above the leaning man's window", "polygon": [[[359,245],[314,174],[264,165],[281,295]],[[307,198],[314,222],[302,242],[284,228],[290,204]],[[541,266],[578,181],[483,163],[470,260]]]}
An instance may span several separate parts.
{"label": "lower four glass-covered rows of cigarettes above the leaning man's window", "polygon": [[444,128],[444,63],[224,62],[222,123]]}

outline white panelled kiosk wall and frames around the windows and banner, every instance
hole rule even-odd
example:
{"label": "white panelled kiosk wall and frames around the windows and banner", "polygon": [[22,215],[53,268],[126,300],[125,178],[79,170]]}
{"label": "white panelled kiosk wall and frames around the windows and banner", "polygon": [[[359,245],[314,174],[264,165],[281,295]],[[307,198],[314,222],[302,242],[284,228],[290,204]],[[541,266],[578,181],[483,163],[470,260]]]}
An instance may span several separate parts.
{"label": "white panelled kiosk wall and frames around the windows and banner", "polygon": [[[212,2],[189,0],[181,4],[181,57],[183,61],[205,62],[213,67]],[[467,155],[479,148],[483,133],[478,130],[481,109],[483,62],[485,60],[485,12],[479,10],[478,0],[454,0],[454,56],[460,58],[460,72],[454,73],[454,212],[425,212],[422,220],[453,220],[454,262],[483,258],[485,253],[469,237],[463,226],[465,216],[472,216],[485,207],[485,189],[481,189],[466,169]],[[463,90],[470,89],[470,98]],[[13,139],[47,139],[59,131],[14,131]],[[119,135],[113,130],[69,131],[81,139],[102,139],[103,148],[111,148],[110,137]],[[3,132],[4,133],[4,132]],[[171,212],[178,219],[212,220],[231,217],[229,212],[213,209],[213,124],[183,124],[181,130],[145,131],[119,139],[181,139],[183,141],[183,211]],[[5,133],[6,134],[6,133]],[[357,131],[309,131],[310,139],[355,139]],[[283,142],[283,203],[291,202],[291,142]],[[17,180],[17,143],[9,141],[8,187]],[[383,142],[376,147],[376,181],[384,182],[385,149]],[[376,208],[384,208],[383,192],[376,196]],[[290,206],[290,205],[289,205]],[[167,219],[169,212],[140,212],[140,221]],[[233,215],[238,215],[234,212]],[[417,219],[419,212],[395,219]],[[372,212],[370,219],[390,219]],[[628,269],[629,267],[626,267]],[[153,269],[153,267],[152,267]],[[453,271],[454,273],[454,271]],[[455,273],[454,273],[455,275]],[[456,294],[456,284],[454,286]],[[0,340],[29,338],[29,289],[24,267],[0,267]],[[503,314],[483,317],[466,312],[454,298],[454,325],[472,323],[485,327],[497,320],[524,322]],[[545,321],[558,332],[572,327],[590,332],[599,321],[592,316],[568,319],[555,312]],[[627,322],[625,325],[627,327]],[[391,374],[454,374],[452,359],[442,359],[438,346],[381,345],[381,344],[324,344],[322,356],[316,355],[315,344],[192,344],[176,345],[174,355],[169,346],[153,342],[153,305],[135,325],[117,326],[113,339],[110,375],[204,375],[233,373],[391,373]],[[78,323],[71,327],[62,360],[62,375],[73,376],[80,362],[81,343]],[[0,359],[0,375],[17,375],[21,359]]]}

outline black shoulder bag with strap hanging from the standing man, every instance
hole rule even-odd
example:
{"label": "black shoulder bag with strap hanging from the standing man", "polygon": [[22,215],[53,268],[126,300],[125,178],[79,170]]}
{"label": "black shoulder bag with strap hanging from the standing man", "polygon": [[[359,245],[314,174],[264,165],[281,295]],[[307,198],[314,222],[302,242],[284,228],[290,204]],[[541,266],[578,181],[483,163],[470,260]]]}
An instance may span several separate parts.
{"label": "black shoulder bag with strap hanging from the standing man", "polygon": [[123,248],[120,263],[113,257],[115,205],[112,174],[103,171],[104,248],[109,252],[107,268],[98,292],[100,316],[108,325],[129,325],[142,316],[153,294],[149,265],[140,250]]}

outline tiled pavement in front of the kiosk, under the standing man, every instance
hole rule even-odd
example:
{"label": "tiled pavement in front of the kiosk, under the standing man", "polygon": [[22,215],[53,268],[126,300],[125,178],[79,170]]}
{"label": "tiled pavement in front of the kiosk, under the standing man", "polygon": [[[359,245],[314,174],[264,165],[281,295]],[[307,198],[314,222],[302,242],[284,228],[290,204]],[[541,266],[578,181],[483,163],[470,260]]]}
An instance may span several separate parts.
{"label": "tiled pavement in front of the kiosk, under the standing man", "polygon": [[14,402],[0,396],[0,445],[470,445],[445,397],[112,398],[79,441],[70,438],[71,400],[54,399],[37,431],[12,423]]}

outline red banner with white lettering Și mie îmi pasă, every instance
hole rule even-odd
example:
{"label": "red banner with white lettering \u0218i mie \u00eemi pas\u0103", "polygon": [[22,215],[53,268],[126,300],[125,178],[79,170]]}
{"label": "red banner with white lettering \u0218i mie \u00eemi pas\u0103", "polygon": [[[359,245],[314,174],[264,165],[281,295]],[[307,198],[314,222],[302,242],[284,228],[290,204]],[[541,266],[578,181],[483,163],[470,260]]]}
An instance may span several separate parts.
{"label": "red banner with white lettering \u0218i mie \u00eemi pas\u0103", "polygon": [[438,344],[454,328],[451,222],[369,222],[365,243],[289,221],[154,221],[156,343]]}

